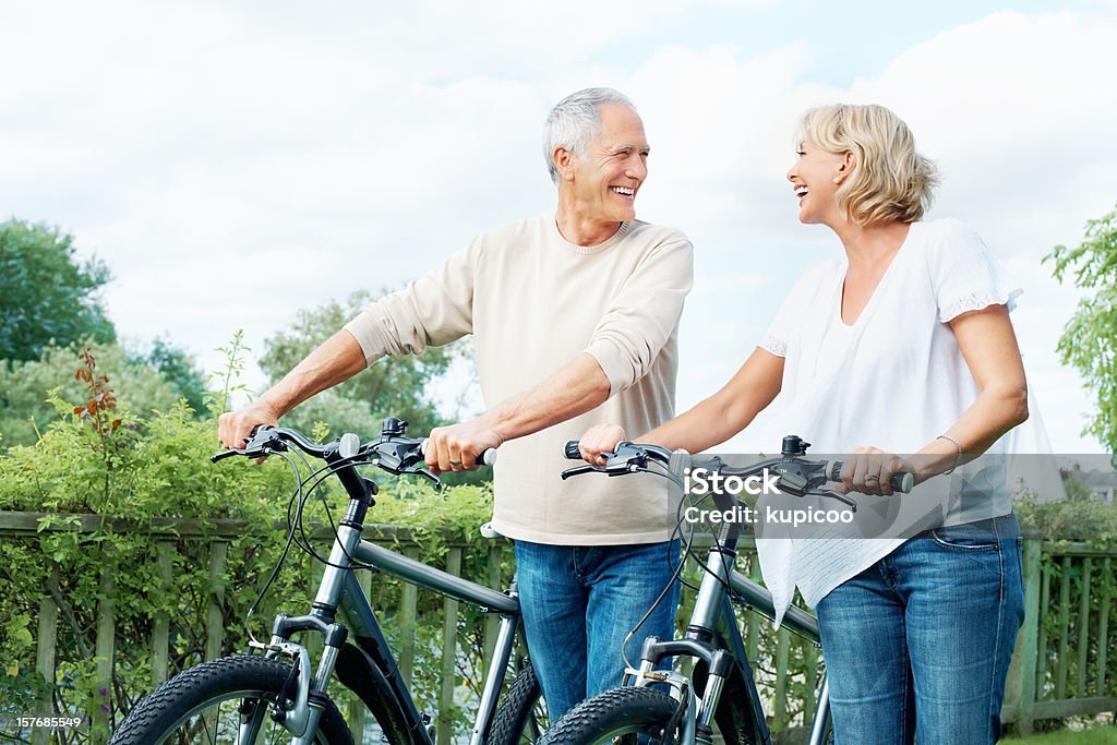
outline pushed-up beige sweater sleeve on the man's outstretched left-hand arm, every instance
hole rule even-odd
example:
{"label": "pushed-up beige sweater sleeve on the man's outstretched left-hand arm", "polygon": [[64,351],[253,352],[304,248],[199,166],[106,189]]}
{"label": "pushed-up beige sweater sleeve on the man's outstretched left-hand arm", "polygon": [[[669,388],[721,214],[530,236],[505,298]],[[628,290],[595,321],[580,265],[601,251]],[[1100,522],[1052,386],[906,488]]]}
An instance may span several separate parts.
{"label": "pushed-up beige sweater sleeve on the man's outstretched left-hand arm", "polygon": [[345,324],[367,364],[385,354],[412,354],[427,345],[449,344],[472,332],[474,280],[481,243],[477,238],[435,271],[369,304]]}

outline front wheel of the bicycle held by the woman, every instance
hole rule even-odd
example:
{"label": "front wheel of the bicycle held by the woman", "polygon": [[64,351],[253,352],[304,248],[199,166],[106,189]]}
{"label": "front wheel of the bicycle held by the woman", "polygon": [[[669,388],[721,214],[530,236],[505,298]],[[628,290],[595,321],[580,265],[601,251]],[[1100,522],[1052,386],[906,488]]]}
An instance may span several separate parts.
{"label": "front wheel of the bicycle held by the woman", "polygon": [[674,743],[678,733],[668,728],[679,703],[650,688],[612,688],[582,701],[552,725],[542,743],[590,745],[591,743]]}

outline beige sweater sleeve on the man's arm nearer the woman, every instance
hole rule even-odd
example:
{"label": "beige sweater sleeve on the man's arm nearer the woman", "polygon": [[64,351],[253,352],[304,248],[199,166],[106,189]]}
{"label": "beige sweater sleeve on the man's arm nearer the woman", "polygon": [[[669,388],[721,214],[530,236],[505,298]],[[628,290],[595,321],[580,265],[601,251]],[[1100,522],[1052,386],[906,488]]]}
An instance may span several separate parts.
{"label": "beige sweater sleeve on the man's arm nearer the woman", "polygon": [[585,352],[609,379],[609,394],[647,374],[670,338],[694,284],[694,248],[680,233],[648,252],[598,322]]}

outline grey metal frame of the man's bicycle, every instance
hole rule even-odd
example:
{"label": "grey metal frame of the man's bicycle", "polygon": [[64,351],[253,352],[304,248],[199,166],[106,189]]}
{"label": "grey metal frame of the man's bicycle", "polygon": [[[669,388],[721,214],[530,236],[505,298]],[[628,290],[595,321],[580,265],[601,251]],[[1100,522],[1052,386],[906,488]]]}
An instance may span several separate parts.
{"label": "grey metal frame of the man's bicycle", "polygon": [[[341,475],[341,471],[338,472]],[[346,483],[345,478],[342,478]],[[363,479],[362,479],[363,481]],[[349,489],[352,481],[346,483]],[[293,644],[290,637],[299,631],[315,631],[323,634],[325,644],[313,679],[305,672],[295,696],[296,705],[288,713],[285,726],[295,735],[296,745],[309,745],[317,730],[322,706],[315,706],[315,697],[323,696],[330,678],[336,671],[337,679],[353,690],[373,713],[392,745],[432,745],[427,729],[429,718],[414,705],[411,693],[403,681],[388,641],[384,639],[369,599],[362,591],[353,562],[374,566],[404,582],[413,583],[433,592],[448,595],[479,608],[483,612],[502,615],[499,633],[489,660],[489,674],[481,691],[480,706],[470,737],[471,745],[483,745],[485,733],[493,720],[497,697],[504,685],[505,674],[519,625],[519,600],[515,579],[508,594],[455,576],[428,566],[382,546],[361,539],[361,524],[367,508],[367,496],[353,499],[342,520],[330,553],[330,563],[323,574],[308,615],[289,617],[280,613],[273,628],[269,656],[289,655],[308,665],[305,647]],[[335,611],[340,610],[349,628],[337,623]],[[352,631],[355,644],[345,640]],[[303,672],[303,671],[300,671]],[[306,690],[304,690],[304,688]],[[304,705],[305,703],[305,705]],[[260,707],[262,710],[262,707]],[[258,715],[256,719],[260,719]],[[259,722],[246,723],[241,727],[241,742],[255,742],[255,729]],[[360,734],[357,734],[360,737]]]}

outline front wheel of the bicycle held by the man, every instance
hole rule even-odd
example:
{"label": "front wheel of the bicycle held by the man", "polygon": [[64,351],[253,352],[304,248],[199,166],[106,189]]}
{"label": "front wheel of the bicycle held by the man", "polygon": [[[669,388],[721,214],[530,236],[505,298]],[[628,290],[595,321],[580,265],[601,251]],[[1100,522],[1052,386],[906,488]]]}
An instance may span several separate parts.
{"label": "front wheel of the bicycle held by the man", "polygon": [[[256,745],[286,742],[271,709],[290,665],[262,657],[204,662],[160,686],[113,733],[109,745]],[[255,732],[255,737],[245,737]],[[319,745],[353,745],[345,720],[328,698],[318,720]]]}

